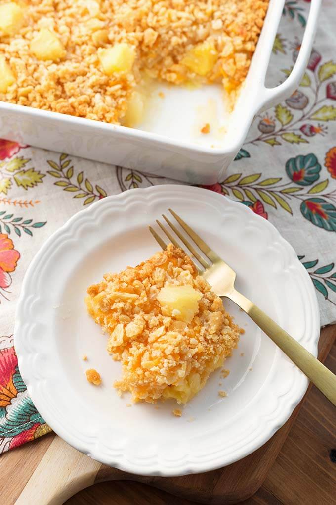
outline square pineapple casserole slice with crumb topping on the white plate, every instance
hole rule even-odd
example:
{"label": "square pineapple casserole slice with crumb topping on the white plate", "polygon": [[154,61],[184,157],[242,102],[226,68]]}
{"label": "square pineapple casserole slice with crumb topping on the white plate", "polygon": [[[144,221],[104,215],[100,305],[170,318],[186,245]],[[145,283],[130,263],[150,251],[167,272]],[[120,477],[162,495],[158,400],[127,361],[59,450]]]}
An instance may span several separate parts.
{"label": "square pineapple casserole slice with crumb topping on the white plate", "polygon": [[89,314],[122,363],[114,383],[133,401],[187,402],[237,347],[242,331],[219,296],[172,244],[135,268],[88,288]]}

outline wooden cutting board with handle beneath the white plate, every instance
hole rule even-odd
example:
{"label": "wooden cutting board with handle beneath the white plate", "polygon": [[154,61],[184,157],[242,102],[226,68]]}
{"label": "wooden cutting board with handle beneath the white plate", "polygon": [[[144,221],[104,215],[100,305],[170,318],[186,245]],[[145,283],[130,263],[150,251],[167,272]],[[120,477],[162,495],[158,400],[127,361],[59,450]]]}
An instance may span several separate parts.
{"label": "wooden cutting board with handle beneath the white plate", "polygon": [[[335,338],[335,326],[321,331],[318,357],[324,361]],[[303,400],[304,401],[304,400]],[[261,486],[268,470],[286,440],[287,434],[300,410],[296,408],[287,423],[258,450],[228,467],[184,477],[142,477],[127,474],[101,465],[66,444],[58,436],[45,445],[35,468],[18,484],[15,498],[6,501],[17,505],[58,505],[79,490],[96,482],[108,480],[136,480],[165,489],[177,496],[204,503],[237,503],[250,497]],[[31,445],[34,450],[34,445]],[[10,456],[10,455],[9,455]],[[6,457],[6,455],[5,455]],[[18,462],[18,469],[20,463]],[[13,475],[11,478],[15,479]],[[13,487],[12,487],[13,489]],[[5,493],[6,494],[6,493]]]}

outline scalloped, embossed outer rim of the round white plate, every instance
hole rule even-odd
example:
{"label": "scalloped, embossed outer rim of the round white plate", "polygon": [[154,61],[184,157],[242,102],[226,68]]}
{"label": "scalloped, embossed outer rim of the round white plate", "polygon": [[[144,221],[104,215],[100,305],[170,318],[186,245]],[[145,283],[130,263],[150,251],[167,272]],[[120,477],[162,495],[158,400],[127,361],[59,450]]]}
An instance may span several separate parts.
{"label": "scalloped, embossed outer rim of the round white plate", "polygon": [[[166,185],[156,187],[155,191],[160,193],[165,190],[172,190],[175,193],[181,191],[181,186]],[[32,261],[27,274],[25,276],[22,291],[20,295],[20,300],[17,306],[16,315],[16,325],[15,325],[15,345],[18,352],[19,366],[23,376],[24,381],[27,384],[29,393],[31,394],[32,400],[35,402],[37,408],[39,409],[41,415],[44,419],[51,425],[51,427],[56,431],[58,435],[63,437],[71,445],[76,447],[78,450],[87,453],[89,456],[101,461],[110,466],[120,468],[124,471],[131,473],[142,474],[142,475],[161,475],[161,476],[177,476],[188,473],[200,473],[204,471],[213,470],[221,466],[229,465],[235,461],[247,456],[250,452],[256,450],[261,446],[266,440],[268,440],[289,418],[294,408],[301,400],[304,395],[308,381],[303,376],[303,374],[297,370],[295,367],[293,370],[293,382],[290,391],[279,391],[275,385],[274,391],[272,391],[272,399],[275,396],[277,400],[276,407],[272,412],[260,412],[260,428],[258,430],[257,436],[253,438],[253,441],[247,445],[241,445],[236,447],[233,452],[230,453],[229,457],[223,459],[221,451],[212,455],[210,459],[203,459],[200,461],[195,461],[193,458],[188,457],[182,458],[180,460],[174,461],[174,466],[171,464],[164,465],[162,462],[159,464],[157,458],[151,458],[148,462],[132,463],[131,461],[123,458],[122,452],[119,450],[111,450],[104,447],[104,443],[100,440],[99,436],[83,436],[81,437],[77,431],[70,430],[69,427],[64,427],[61,422],[62,416],[54,416],[53,409],[50,408],[47,401],[41,401],[44,396],[44,400],[48,397],[47,394],[47,380],[40,377],[38,367],[36,368],[36,356],[38,349],[34,348],[34,331],[35,324],[31,324],[29,320],[33,321],[33,316],[31,315],[31,310],[36,309],[36,303],[38,298],[36,296],[31,296],[29,294],[32,286],[34,286],[34,281],[37,281],[36,272],[38,271],[37,266],[40,264],[40,260],[44,255],[44,252],[48,247],[57,245],[65,239],[66,237],[72,236],[72,228],[74,228],[75,223],[78,224],[80,220],[83,223],[85,221],[89,222],[90,218],[94,217],[96,219],[96,214],[98,215],[104,206],[113,206],[118,209],[120,205],[123,205],[123,209],[127,207],[128,203],[134,201],[135,198],[141,201],[142,204],[146,203],[151,198],[151,193],[154,188],[148,189],[132,189],[125,193],[121,193],[117,196],[107,197],[104,200],[100,200],[89,209],[83,210],[80,213],[73,216],[68,223],[63,225],[59,230],[57,230],[51,237],[46,241],[44,246],[40,249],[38,254]],[[189,188],[193,192],[203,192],[199,188]],[[214,199],[224,198],[221,195],[213,194]],[[230,205],[233,206],[235,212],[242,214],[243,219],[252,220],[254,223],[258,223],[262,220],[261,217],[255,216],[250,213],[248,209],[241,204],[230,201]],[[268,222],[263,222],[263,225],[267,228],[267,233],[269,233],[270,241],[272,242],[272,247],[276,247],[283,251],[283,256],[286,258],[286,269],[290,269],[295,263],[295,269],[298,267],[298,260],[294,249],[286,242],[277,232],[273,225]],[[302,343],[308,345],[309,350],[316,356],[317,354],[317,342],[319,335],[319,312],[317,306],[316,295],[311,285],[310,278],[302,266],[299,271],[300,274],[300,287],[303,296],[305,296],[306,301],[309,301],[310,313],[306,314],[307,324],[309,328],[307,329],[308,334],[303,339]],[[35,272],[35,274],[34,274]],[[32,284],[33,283],[33,284]],[[273,371],[274,373],[275,371]],[[31,377],[34,377],[33,381]],[[36,377],[40,378],[37,386]],[[44,389],[44,395],[41,395],[41,391]],[[260,406],[261,407],[261,406]],[[262,410],[262,409],[261,409]],[[262,428],[261,428],[262,426]],[[88,449],[89,448],[89,449]]]}

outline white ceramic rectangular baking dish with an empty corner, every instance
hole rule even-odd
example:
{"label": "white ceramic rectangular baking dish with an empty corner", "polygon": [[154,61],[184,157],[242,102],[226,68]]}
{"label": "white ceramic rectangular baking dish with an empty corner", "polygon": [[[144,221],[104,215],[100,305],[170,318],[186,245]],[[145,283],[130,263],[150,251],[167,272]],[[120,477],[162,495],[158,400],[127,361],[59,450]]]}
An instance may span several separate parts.
{"label": "white ceramic rectangular baking dish with an empty corner", "polygon": [[[167,88],[165,106],[154,121],[145,120],[143,130],[0,102],[0,137],[193,184],[213,184],[236,156],[253,117],[288,97],[303,76],[321,0],[311,1],[300,53],[290,76],[275,88],[264,85],[284,3],[285,0],[270,0],[248,75],[229,115],[218,113],[224,108],[216,86],[200,90]],[[220,116],[217,119],[226,133],[222,138],[199,134],[193,138],[192,111],[200,102],[206,104],[208,97],[215,104],[215,113]]]}

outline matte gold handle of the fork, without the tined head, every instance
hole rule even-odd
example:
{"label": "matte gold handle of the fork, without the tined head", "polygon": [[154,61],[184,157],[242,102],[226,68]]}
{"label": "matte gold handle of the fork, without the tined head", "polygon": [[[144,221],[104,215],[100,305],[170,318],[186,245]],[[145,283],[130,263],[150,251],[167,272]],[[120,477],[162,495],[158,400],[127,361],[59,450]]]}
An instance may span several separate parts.
{"label": "matte gold handle of the fork, without the tined head", "polygon": [[226,296],[253,319],[336,407],[336,375],[243,294],[234,289]]}

